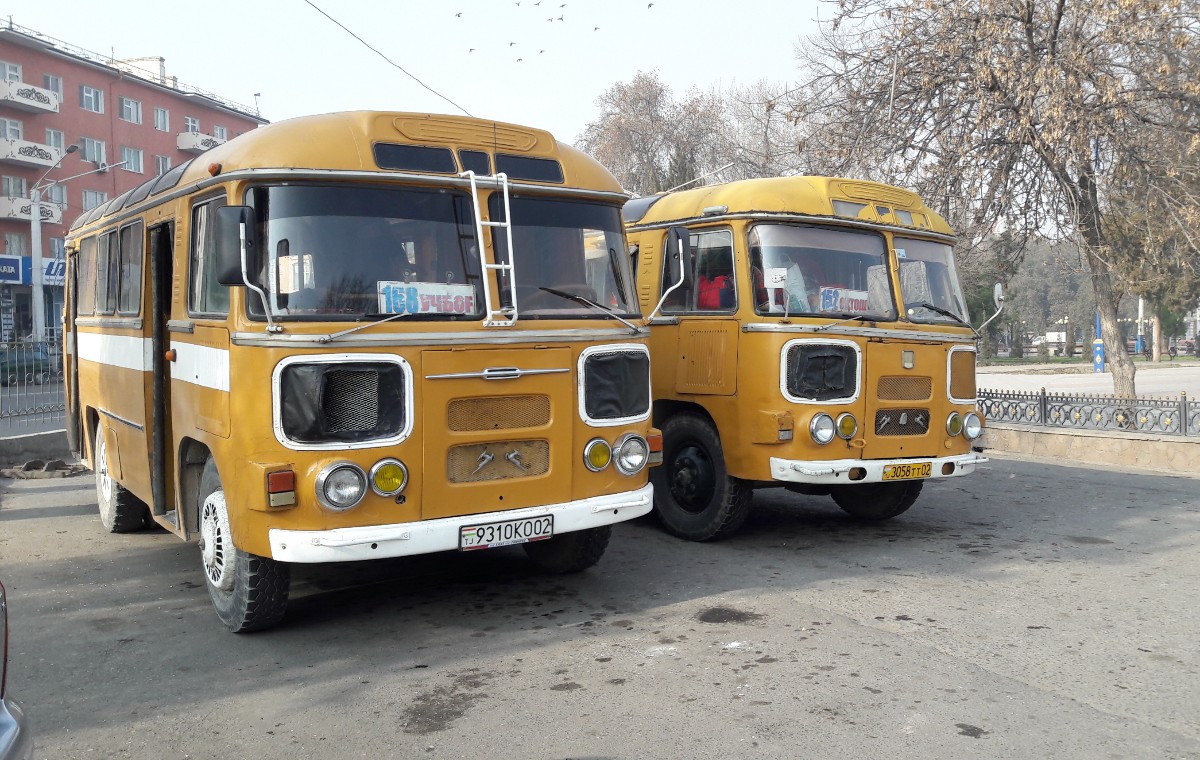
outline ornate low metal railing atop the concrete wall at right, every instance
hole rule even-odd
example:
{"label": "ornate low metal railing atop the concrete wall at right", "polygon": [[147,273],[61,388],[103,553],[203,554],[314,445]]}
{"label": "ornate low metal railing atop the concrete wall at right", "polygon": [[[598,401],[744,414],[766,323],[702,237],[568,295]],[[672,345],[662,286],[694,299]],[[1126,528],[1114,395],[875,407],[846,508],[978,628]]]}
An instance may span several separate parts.
{"label": "ornate low metal railing atop the concrete wall at right", "polygon": [[1120,399],[979,389],[984,418],[1068,430],[1120,430],[1164,436],[1200,436],[1200,402],[1178,397]]}

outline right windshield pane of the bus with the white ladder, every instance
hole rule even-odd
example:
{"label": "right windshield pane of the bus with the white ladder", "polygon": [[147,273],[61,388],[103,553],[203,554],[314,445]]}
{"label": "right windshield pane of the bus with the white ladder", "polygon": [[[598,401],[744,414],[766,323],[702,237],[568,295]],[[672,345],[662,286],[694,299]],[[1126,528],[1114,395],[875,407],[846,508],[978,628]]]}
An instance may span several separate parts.
{"label": "right windshield pane of the bus with the white ladder", "polygon": [[[512,197],[512,249],[521,317],[604,319],[604,312],[564,298],[582,297],[623,317],[638,316],[625,255],[620,209],[580,201]],[[490,215],[504,219],[504,202],[492,196]],[[503,228],[493,229],[496,258],[509,261]],[[503,270],[502,270],[503,271]],[[553,293],[558,291],[559,293]],[[506,276],[500,303],[511,305]]]}

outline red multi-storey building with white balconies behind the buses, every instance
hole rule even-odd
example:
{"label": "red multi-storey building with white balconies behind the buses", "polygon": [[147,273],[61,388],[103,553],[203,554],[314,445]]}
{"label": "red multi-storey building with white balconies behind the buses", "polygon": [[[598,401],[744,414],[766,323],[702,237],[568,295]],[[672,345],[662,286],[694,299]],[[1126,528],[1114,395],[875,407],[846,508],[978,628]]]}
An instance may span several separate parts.
{"label": "red multi-storey building with white balconies behind the buses", "polygon": [[[0,26],[0,340],[32,330],[30,195],[48,169],[41,237],[46,325],[54,337],[71,222],[263,124],[257,108],[168,77],[162,58],[113,60],[12,22]],[[72,144],[79,149],[65,155]],[[94,169],[101,170],[47,186]]]}

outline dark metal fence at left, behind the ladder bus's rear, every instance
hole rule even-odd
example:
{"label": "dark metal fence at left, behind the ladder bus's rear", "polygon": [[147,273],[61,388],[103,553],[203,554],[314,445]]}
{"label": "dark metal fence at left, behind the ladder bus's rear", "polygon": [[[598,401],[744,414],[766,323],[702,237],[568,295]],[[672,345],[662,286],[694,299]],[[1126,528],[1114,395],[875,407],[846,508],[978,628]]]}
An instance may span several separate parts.
{"label": "dark metal fence at left, behind the ladder bus's rear", "polygon": [[0,436],[59,430],[65,419],[62,346],[0,343]]}

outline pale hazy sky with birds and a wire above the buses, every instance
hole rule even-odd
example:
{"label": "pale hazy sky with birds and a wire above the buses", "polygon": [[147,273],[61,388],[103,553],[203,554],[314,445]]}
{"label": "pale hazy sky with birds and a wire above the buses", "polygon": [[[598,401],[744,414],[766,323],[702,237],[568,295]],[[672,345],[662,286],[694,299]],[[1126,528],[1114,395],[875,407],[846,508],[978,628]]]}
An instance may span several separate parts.
{"label": "pale hazy sky with birds and a wire above the buses", "polygon": [[[796,46],[816,30],[820,5],[312,2],[472,115],[550,130],[565,142],[595,119],[604,90],[638,71],[656,70],[676,96],[692,86],[796,80]],[[168,76],[250,107],[259,92],[271,121],[361,108],[461,113],[305,0],[26,0],[0,8],[0,17],[118,59],[162,55]]]}

